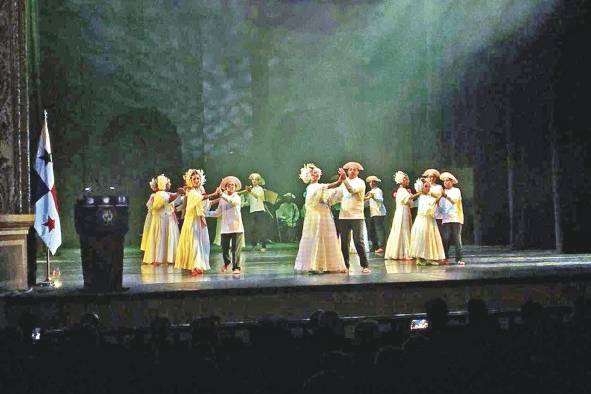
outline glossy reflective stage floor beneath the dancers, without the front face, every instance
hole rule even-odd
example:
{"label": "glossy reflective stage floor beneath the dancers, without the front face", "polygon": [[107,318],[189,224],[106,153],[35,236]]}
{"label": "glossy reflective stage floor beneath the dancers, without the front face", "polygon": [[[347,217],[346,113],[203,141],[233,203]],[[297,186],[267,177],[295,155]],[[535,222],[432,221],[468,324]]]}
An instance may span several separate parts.
{"label": "glossy reflective stage floor beneath the dancers, without the front face", "polygon": [[[161,291],[198,291],[213,289],[244,289],[267,287],[338,286],[357,284],[498,281],[572,278],[591,275],[591,254],[557,254],[547,250],[511,251],[506,247],[466,246],[465,266],[417,266],[412,262],[384,260],[369,254],[370,274],[362,274],[356,255],[351,256],[349,274],[302,274],[293,271],[296,244],[273,244],[266,252],[246,251],[242,273],[220,273],[221,253],[211,253],[211,271],[197,277],[174,269],[172,265],[154,267],[141,264],[138,249],[126,249],[123,285],[127,293]],[[80,251],[62,250],[52,259],[59,268],[60,288],[39,289],[38,293],[72,293],[83,287]],[[37,262],[37,279],[45,279],[45,261]]]}

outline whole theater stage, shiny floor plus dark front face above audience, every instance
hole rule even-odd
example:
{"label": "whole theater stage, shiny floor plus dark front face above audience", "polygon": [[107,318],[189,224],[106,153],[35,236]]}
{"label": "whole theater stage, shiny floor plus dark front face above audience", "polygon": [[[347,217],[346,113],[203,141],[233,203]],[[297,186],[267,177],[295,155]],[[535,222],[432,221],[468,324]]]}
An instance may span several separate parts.
{"label": "whole theater stage, shiny floor plus dark front face above audience", "polygon": [[[424,302],[443,297],[450,310],[463,310],[471,297],[493,309],[518,308],[527,298],[544,305],[568,305],[589,295],[591,255],[551,251],[511,251],[504,247],[465,248],[465,266],[417,267],[371,255],[370,274],[352,256],[350,274],[295,274],[296,245],[273,244],[267,252],[244,253],[241,275],[219,272],[221,257],[212,251],[212,270],[192,277],[172,266],[141,264],[137,249],[126,249],[123,285],[129,290],[95,294],[82,291],[79,250],[64,250],[52,266],[61,287],[35,288],[0,295],[0,325],[13,324],[29,311],[47,328],[73,324],[97,312],[106,327],[147,326],[156,315],[174,323],[215,314],[223,321],[256,320],[264,315],[306,318],[316,309],[341,316],[385,316],[422,312]],[[38,261],[38,281],[45,278]]]}

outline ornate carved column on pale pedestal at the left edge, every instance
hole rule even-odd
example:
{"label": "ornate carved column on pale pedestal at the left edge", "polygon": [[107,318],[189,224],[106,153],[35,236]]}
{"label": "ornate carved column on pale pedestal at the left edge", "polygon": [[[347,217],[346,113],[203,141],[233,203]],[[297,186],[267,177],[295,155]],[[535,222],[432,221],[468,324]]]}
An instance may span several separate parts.
{"label": "ornate carved column on pale pedestal at the left edge", "polygon": [[31,215],[27,0],[0,0],[0,289],[27,287]]}

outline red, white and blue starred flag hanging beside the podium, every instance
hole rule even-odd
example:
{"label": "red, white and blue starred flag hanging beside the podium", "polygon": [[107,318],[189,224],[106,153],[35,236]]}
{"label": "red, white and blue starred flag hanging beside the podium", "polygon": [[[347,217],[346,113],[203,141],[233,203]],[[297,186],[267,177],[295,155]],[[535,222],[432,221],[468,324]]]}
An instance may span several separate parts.
{"label": "red, white and blue starred flag hanging beside the podium", "polygon": [[49,130],[47,129],[47,113],[43,129],[39,137],[37,156],[35,157],[35,171],[33,172],[35,202],[35,230],[45,242],[51,254],[55,254],[62,244],[62,230],[57,206],[57,191],[53,180],[53,159]]}

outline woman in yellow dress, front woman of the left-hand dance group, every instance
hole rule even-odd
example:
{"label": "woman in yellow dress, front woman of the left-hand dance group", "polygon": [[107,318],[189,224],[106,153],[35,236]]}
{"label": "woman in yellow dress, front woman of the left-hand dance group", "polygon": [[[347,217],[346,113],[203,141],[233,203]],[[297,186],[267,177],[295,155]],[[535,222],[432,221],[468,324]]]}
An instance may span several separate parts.
{"label": "woman in yellow dress, front woman of the left-hand dance group", "polygon": [[184,221],[177,247],[174,268],[190,270],[196,276],[210,269],[209,232],[205,212],[209,209],[210,197],[204,193],[205,174],[203,170],[189,169],[185,180]]}

